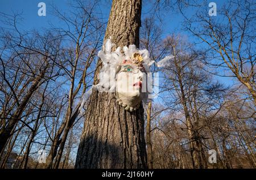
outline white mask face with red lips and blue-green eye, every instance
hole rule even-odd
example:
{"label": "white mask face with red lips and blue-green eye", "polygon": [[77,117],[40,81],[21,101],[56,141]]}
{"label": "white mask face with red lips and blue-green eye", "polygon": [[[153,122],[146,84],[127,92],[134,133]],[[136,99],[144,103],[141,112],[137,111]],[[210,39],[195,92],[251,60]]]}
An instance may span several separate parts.
{"label": "white mask face with red lips and blue-green eye", "polygon": [[[123,64],[116,76],[116,92],[119,105],[132,112],[141,104],[142,80],[146,75],[143,68],[133,64]],[[146,83],[146,82],[144,82]]]}

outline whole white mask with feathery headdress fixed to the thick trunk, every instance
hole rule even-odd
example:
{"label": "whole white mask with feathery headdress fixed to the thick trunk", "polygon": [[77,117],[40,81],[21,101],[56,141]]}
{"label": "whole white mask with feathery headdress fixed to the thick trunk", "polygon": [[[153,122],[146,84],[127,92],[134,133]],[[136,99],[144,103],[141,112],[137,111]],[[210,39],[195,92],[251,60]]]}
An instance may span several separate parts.
{"label": "whole white mask with feathery headdress fixed to the thick trunk", "polygon": [[[124,46],[123,53],[120,47],[112,52],[113,46],[109,38],[98,52],[102,68],[98,74],[99,83],[93,85],[93,88],[97,88],[99,92],[115,93],[118,104],[132,112],[141,105],[142,100],[147,100],[146,84],[151,80],[147,78],[147,73],[155,61],[151,61],[148,50],[139,50],[135,45]],[[165,57],[156,66],[162,67],[171,58],[172,56]]]}

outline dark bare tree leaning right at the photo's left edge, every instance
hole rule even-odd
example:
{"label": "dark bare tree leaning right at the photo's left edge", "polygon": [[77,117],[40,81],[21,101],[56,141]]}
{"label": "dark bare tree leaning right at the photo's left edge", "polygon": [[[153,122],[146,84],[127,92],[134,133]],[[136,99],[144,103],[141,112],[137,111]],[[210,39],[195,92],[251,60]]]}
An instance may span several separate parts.
{"label": "dark bare tree leaning right at the photo's left edge", "polygon": [[[12,20],[13,34],[5,31],[2,33],[1,79],[5,87],[1,90],[6,88],[7,91],[2,91],[5,98],[1,108],[0,152],[14,133],[16,123],[22,121],[21,117],[35,91],[46,79],[52,78],[47,77],[46,74],[48,68],[55,63],[60,45],[59,39],[53,39],[51,33],[44,35],[44,38],[40,38],[37,33],[34,33],[34,37],[22,35],[16,29],[16,16]],[[18,67],[14,65],[15,63]],[[10,79],[13,72],[15,76]],[[11,94],[8,93],[9,91]],[[10,108],[7,109],[7,107]]]}

